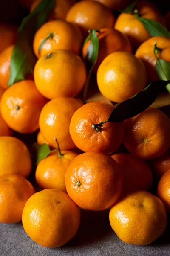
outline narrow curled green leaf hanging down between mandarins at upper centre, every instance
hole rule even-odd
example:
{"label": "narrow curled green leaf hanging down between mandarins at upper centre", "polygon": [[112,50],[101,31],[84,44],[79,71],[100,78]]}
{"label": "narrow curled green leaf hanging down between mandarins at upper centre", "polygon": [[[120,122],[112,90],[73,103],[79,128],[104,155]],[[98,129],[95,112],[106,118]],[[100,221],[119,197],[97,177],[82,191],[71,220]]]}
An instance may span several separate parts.
{"label": "narrow curled green leaf hanging down between mandarins at upper centre", "polygon": [[94,68],[94,65],[96,64],[97,57],[98,57],[98,52],[99,52],[99,40],[96,35],[96,30],[94,29],[92,32],[90,32],[90,35],[85,40],[85,43],[90,41],[90,44],[88,46],[86,56],[85,56],[85,62],[86,62],[86,67],[88,70],[88,78],[85,81],[85,86],[84,86],[84,92],[83,92],[83,101],[85,102],[87,92],[88,92],[88,87],[91,79],[91,73]]}

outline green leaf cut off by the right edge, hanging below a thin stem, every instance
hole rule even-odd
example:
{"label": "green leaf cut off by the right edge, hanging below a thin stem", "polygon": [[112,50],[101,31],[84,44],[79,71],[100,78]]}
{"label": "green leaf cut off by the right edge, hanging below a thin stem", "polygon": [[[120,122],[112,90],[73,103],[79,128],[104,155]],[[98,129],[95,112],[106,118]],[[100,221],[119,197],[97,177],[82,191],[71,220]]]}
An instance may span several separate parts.
{"label": "green leaf cut off by the right edge, hanging below a thin stem", "polygon": [[[170,63],[162,59],[156,61],[156,73],[161,80],[170,80]],[[168,84],[166,88],[170,93],[170,84]]]}

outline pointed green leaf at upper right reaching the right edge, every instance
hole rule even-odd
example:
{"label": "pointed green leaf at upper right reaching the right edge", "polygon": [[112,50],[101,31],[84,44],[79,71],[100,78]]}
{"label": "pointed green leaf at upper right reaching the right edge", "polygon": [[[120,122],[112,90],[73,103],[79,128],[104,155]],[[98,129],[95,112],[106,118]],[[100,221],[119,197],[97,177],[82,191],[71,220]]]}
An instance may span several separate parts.
{"label": "pointed green leaf at upper right reaching the right edge", "polygon": [[155,20],[149,20],[142,17],[138,18],[144,25],[147,32],[151,37],[153,36],[166,36],[170,37],[170,32],[159,22]]}

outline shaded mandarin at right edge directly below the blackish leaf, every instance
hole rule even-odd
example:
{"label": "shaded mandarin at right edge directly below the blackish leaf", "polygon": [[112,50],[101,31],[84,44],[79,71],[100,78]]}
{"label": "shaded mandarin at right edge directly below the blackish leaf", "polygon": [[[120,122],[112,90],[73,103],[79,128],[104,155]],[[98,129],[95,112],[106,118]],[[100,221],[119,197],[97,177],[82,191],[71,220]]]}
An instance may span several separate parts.
{"label": "shaded mandarin at right edge directly below the blackish leaf", "polygon": [[170,119],[159,109],[147,108],[125,121],[123,143],[136,157],[153,159],[160,157],[170,147],[169,131]]}

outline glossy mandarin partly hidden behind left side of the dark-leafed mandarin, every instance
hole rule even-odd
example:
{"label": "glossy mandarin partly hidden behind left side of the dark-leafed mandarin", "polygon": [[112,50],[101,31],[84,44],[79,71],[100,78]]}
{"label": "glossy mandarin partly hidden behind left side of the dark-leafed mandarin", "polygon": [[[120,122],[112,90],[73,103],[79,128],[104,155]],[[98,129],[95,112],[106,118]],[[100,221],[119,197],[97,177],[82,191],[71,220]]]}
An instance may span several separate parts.
{"label": "glossy mandarin partly hidden behind left side of the dark-leafed mandarin", "polygon": [[57,138],[61,149],[75,148],[69,133],[71,117],[82,102],[70,97],[58,97],[48,102],[40,114],[40,131],[45,141],[57,148],[54,137]]}

